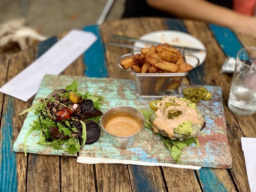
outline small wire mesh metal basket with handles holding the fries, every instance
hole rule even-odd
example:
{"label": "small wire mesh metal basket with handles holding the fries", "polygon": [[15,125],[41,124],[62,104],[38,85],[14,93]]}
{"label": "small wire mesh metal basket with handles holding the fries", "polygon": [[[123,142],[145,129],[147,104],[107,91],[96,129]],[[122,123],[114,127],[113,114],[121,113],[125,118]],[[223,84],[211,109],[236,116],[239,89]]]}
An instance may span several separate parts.
{"label": "small wire mesh metal basket with handles holding the fries", "polygon": [[[140,50],[134,50],[131,53],[123,55],[118,60],[118,66],[124,69],[121,65],[121,61],[137,53],[140,53]],[[182,55],[185,62],[186,60],[183,52]],[[189,55],[194,57],[194,55]],[[197,67],[199,64],[198,58],[196,59],[198,62],[195,67]],[[136,73],[130,69],[124,70],[131,71],[131,73],[134,75],[137,84],[136,96],[139,98],[161,98],[163,96],[178,96],[183,77],[187,74],[187,72]]]}

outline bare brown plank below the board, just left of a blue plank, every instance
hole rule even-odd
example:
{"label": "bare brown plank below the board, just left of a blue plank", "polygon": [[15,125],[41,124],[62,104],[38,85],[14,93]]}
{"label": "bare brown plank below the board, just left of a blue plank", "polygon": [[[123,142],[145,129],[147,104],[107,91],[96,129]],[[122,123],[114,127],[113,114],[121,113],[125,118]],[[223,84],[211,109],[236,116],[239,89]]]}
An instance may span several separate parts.
{"label": "bare brown plank below the board, just left of a blue plank", "polygon": [[201,192],[193,169],[167,167],[162,169],[169,192]]}

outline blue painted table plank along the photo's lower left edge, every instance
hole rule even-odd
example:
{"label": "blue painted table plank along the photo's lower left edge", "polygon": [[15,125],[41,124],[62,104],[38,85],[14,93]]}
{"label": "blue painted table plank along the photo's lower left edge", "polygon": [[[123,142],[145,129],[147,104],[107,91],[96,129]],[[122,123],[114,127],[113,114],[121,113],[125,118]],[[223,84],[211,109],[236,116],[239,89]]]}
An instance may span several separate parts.
{"label": "blue painted table plank along the photo's lower left edge", "polygon": [[8,96],[10,106],[3,112],[0,142],[0,192],[17,192],[17,162],[12,151],[13,98]]}

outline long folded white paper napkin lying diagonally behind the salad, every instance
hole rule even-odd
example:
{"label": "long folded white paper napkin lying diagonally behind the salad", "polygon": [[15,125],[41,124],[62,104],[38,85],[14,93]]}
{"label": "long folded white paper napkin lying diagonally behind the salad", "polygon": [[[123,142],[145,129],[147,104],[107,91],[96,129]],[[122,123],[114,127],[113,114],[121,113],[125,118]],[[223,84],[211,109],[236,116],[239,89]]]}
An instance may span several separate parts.
{"label": "long folded white paper napkin lying diagonally behind the salad", "polygon": [[37,93],[45,74],[60,74],[96,40],[97,36],[91,32],[72,30],[7,84],[4,84],[0,92],[27,101]]}

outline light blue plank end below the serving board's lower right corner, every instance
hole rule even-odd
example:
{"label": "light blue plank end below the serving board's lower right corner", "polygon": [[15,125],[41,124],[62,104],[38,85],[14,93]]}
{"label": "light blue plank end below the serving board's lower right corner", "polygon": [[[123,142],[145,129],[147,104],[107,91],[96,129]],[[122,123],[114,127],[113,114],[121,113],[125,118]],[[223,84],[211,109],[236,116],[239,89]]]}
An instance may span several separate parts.
{"label": "light blue plank end below the serving board's lower right corner", "polygon": [[198,172],[204,192],[228,192],[210,168],[201,168]]}

